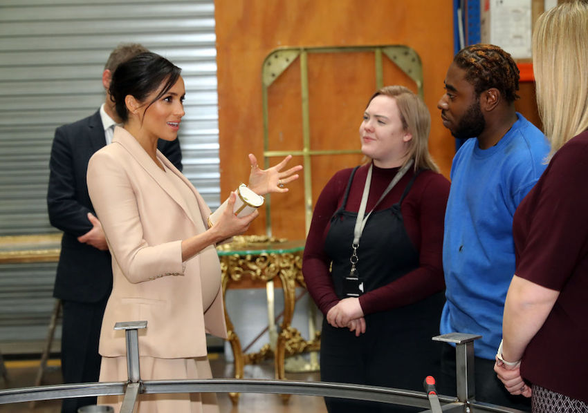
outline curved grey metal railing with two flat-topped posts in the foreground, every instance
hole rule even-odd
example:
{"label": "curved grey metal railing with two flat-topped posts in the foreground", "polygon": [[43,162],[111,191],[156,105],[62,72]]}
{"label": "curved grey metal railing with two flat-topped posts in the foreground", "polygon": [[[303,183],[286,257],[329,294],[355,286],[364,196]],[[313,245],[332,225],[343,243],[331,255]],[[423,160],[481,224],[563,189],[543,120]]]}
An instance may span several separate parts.
{"label": "curved grey metal railing with two flat-topped posts in the foreground", "polygon": [[[85,396],[124,395],[120,413],[133,413],[139,394],[240,392],[352,398],[363,401],[377,401],[395,405],[421,407],[424,409],[423,413],[439,412],[438,405],[436,407],[433,401],[430,401],[427,393],[389,387],[320,381],[302,382],[238,378],[142,381],[140,378],[138,329],[144,329],[146,327],[146,321],[116,323],[115,329],[125,330],[127,336],[127,369],[129,379],[126,382],[46,385],[0,390],[0,404]],[[457,398],[439,395],[434,399],[439,401],[441,411],[445,413],[522,413],[520,410],[475,401],[473,346],[474,340],[479,337],[473,334],[452,333],[433,338],[433,340],[445,341],[456,345],[457,374]]]}

